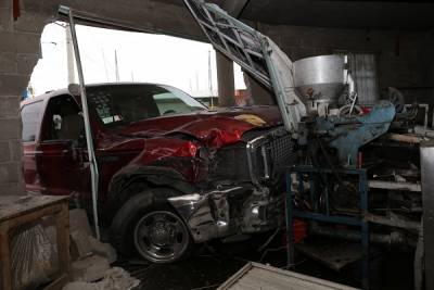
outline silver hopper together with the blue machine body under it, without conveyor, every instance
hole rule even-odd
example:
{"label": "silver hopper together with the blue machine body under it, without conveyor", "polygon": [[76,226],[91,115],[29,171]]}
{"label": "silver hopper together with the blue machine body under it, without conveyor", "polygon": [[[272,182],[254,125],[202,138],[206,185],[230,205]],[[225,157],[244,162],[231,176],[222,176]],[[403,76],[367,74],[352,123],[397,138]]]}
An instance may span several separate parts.
{"label": "silver hopper together with the blue machine body under it, without conveyor", "polygon": [[[321,55],[294,63],[294,87],[306,108],[298,124],[297,142],[306,146],[316,166],[318,150],[334,149],[336,165],[355,167],[359,148],[385,134],[395,117],[388,101],[373,104],[363,112],[356,104],[354,80],[346,68],[345,55]],[[326,149],[322,150],[326,154]]]}

